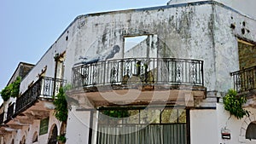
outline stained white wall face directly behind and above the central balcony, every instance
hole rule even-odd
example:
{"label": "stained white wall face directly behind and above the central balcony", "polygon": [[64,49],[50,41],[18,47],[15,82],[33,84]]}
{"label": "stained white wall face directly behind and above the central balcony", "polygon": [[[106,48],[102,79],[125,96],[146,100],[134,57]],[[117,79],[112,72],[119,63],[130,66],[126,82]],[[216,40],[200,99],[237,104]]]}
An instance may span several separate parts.
{"label": "stained white wall face directly behind and above the central balcony", "polygon": [[[159,50],[159,57],[204,60],[205,84],[207,89],[214,90],[211,12],[212,6],[207,4],[82,16],[79,18],[77,38],[73,39],[67,49],[67,59],[73,59],[74,64],[79,62],[80,56],[96,55],[90,49],[102,51],[115,43],[123,49],[123,37],[154,34],[165,45]],[[122,56],[115,55],[115,58]]]}

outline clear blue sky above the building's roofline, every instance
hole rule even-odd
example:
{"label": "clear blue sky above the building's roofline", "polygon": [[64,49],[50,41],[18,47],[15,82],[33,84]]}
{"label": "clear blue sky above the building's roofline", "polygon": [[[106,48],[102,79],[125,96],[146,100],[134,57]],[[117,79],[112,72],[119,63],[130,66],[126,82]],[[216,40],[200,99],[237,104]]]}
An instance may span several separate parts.
{"label": "clear blue sky above the building's roofline", "polygon": [[168,0],[1,0],[0,90],[6,86],[20,61],[36,64],[78,15],[161,6],[167,2]]}

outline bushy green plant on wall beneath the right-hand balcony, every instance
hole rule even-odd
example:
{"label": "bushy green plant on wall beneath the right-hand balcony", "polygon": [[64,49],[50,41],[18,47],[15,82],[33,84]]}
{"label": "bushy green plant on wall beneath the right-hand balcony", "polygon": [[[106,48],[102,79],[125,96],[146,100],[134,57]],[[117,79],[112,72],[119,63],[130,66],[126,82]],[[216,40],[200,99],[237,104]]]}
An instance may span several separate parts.
{"label": "bushy green plant on wall beneath the right-hand balcony", "polygon": [[227,95],[223,98],[224,109],[230,112],[230,115],[236,116],[236,118],[241,119],[244,116],[249,116],[249,111],[242,108],[242,105],[247,102],[245,96],[237,95],[236,90],[229,89]]}

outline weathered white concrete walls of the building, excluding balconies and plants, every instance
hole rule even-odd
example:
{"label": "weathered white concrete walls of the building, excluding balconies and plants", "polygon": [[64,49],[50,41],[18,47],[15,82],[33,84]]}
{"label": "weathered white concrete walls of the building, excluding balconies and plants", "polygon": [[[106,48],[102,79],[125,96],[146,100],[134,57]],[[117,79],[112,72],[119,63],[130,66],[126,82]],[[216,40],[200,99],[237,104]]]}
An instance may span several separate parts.
{"label": "weathered white concrete walls of the building, excluding balconies and plants", "polygon": [[[245,139],[245,130],[249,124],[247,121],[256,121],[255,107],[247,107],[251,112],[249,118],[236,119],[224,110],[222,102],[217,102],[217,97],[223,97],[228,89],[233,88],[230,72],[240,69],[238,39],[256,42],[256,13],[253,13],[253,9],[239,7],[239,4],[230,1],[179,2],[170,1],[166,6],[155,8],[78,16],[23,78],[20,93],[24,93],[29,84],[35,84],[38,76],[66,79],[67,84],[72,84],[73,66],[91,61],[132,56],[203,60],[203,86],[207,90],[204,99],[196,101],[189,108],[190,143],[255,142]],[[143,42],[125,53],[125,37],[137,36],[152,36],[149,51],[144,49],[148,42]],[[115,45],[119,46],[119,50],[112,53]],[[55,60],[58,55],[61,58]],[[78,101],[83,106],[88,102],[85,96],[79,97]],[[6,111],[9,102],[5,104]],[[84,111],[84,107],[73,103],[70,105],[67,143],[96,143],[97,133],[90,131],[90,128],[97,128],[97,113],[91,114],[90,111]],[[53,116],[52,105],[42,102],[42,106],[49,112],[49,130],[47,134],[38,135],[38,141],[34,143],[47,143],[54,124],[60,135],[61,122]],[[11,143],[14,140],[17,143],[25,135],[26,143],[32,143],[32,136],[38,131],[39,124],[39,120],[33,120],[32,124],[3,135],[2,141]],[[224,128],[230,130],[230,140],[221,138]]]}

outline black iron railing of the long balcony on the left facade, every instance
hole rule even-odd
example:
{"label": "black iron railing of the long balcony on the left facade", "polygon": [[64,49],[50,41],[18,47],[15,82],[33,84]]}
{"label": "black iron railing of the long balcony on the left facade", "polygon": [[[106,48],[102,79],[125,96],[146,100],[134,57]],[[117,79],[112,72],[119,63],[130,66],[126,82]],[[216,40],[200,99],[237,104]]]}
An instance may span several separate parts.
{"label": "black iron railing of the long balcony on the left facade", "polygon": [[53,95],[56,95],[61,85],[66,83],[63,79],[58,78],[39,78],[38,81],[27,89],[19,98],[15,104],[15,114],[23,112],[27,107],[31,107],[38,98],[52,99]]}

